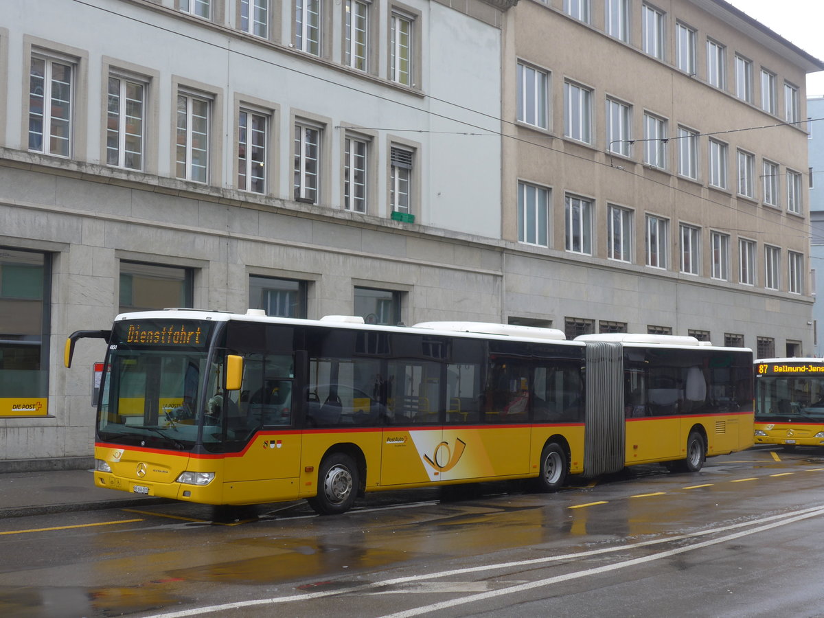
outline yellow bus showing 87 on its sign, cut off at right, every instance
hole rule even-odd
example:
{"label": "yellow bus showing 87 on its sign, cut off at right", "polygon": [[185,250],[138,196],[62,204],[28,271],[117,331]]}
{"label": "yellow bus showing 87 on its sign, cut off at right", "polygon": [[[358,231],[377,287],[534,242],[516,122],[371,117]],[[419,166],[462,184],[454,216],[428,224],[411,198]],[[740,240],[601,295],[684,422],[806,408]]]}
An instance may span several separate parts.
{"label": "yellow bus showing 87 on its sign, cut off at right", "polygon": [[824,358],[755,362],[756,444],[824,446]]}

